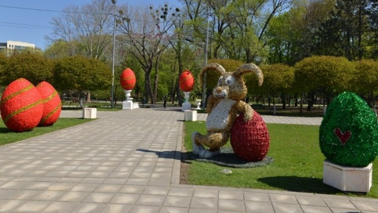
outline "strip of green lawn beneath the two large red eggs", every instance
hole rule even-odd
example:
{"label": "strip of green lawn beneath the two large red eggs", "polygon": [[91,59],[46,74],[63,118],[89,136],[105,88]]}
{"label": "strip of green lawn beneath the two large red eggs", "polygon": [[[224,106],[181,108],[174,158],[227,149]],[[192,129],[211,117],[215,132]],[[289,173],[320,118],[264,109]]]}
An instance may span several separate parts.
{"label": "strip of green lawn beneath the two large red eggs", "polygon": [[35,137],[45,133],[53,132],[59,129],[74,126],[80,123],[93,121],[91,119],[72,119],[72,118],[59,118],[52,126],[35,127],[27,132],[13,132],[8,129],[4,122],[0,122],[0,145],[13,143],[16,141],[25,140],[27,138]]}

